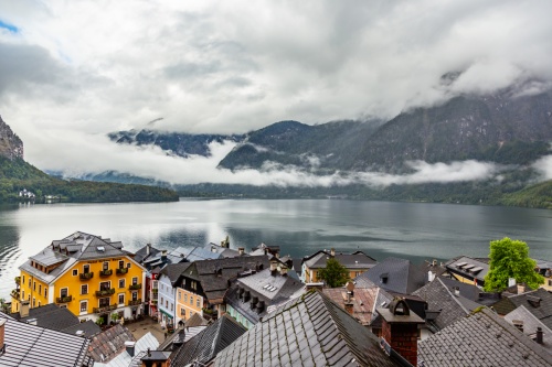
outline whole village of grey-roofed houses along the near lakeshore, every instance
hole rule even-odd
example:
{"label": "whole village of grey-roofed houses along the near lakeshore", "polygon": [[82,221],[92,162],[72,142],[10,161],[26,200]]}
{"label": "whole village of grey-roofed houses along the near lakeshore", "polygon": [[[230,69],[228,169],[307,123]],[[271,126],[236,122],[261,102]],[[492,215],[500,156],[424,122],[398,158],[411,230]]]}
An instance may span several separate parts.
{"label": "whole village of grey-roofed houses along the near lakeshore", "polygon": [[[328,261],[346,285],[321,277]],[[1,366],[551,366],[552,261],[486,292],[488,258],[414,265],[261,244],[136,253],[76,231],[20,268]]]}

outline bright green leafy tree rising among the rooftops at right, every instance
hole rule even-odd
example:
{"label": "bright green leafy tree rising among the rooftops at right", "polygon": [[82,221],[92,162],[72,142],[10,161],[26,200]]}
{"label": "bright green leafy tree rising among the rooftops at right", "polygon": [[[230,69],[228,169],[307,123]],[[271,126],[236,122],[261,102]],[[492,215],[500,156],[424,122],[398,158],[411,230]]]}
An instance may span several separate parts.
{"label": "bright green leafy tree rising among the rooftops at right", "polygon": [[544,278],[534,271],[537,262],[529,257],[529,246],[508,237],[490,241],[490,268],[485,277],[486,291],[502,291],[508,288],[508,279],[526,283],[532,289],[544,283]]}

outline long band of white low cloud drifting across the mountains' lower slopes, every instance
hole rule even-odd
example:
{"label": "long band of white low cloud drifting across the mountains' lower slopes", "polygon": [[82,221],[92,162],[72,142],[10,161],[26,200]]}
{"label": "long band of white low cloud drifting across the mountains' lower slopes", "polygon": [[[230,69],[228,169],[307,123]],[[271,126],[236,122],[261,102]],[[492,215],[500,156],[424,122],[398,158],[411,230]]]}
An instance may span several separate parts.
{"label": "long band of white low cloud drifting across the mountains' lower slopes", "polygon": [[[47,138],[54,141],[61,140],[56,137],[57,133],[54,132]],[[275,162],[265,162],[261,170],[231,171],[217,168],[219,162],[235,147],[234,142],[229,141],[211,143],[210,156],[192,155],[183,159],[167,155],[167,152],[155,145],[116,144],[104,136],[88,136],[83,139],[81,134],[74,134],[68,140],[72,144],[68,148],[74,151],[72,155],[65,155],[62,150],[53,151],[43,158],[40,165],[50,171],[62,171],[68,177],[117,171],[171,184],[210,182],[282,187],[329,187],[350,184],[381,187],[392,184],[452,183],[488,180],[501,171],[501,168],[493,163],[477,161],[448,164],[411,161],[406,164],[413,173],[404,175],[381,172],[336,172],[329,175],[317,175],[311,173],[310,169],[304,170]],[[93,159],[89,159],[91,156]],[[309,159],[312,164],[317,162],[315,156]],[[87,160],[86,164],[83,164],[85,160]]]}

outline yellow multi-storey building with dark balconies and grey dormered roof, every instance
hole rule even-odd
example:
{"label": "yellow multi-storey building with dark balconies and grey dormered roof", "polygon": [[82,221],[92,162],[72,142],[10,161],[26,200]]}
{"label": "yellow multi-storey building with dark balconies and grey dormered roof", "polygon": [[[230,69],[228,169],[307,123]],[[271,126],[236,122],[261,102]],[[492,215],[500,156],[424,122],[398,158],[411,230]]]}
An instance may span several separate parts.
{"label": "yellow multi-storey building with dark balconies and grey dormered roof", "polygon": [[145,268],[120,241],[77,231],[52,241],[19,269],[12,312],[26,301],[31,309],[56,303],[81,320],[103,317],[104,323],[113,314],[129,319],[141,313]]}

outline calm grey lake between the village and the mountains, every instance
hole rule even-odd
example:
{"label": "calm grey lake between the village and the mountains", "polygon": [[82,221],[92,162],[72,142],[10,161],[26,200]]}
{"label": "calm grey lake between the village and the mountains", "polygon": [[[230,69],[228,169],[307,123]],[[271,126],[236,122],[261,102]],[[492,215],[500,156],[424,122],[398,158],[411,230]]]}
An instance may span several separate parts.
{"label": "calm grey lake between the village and the mountains", "polygon": [[487,257],[489,241],[528,242],[552,260],[552,211],[341,199],[181,199],[178,203],[21,204],[0,207],[0,296],[9,299],[18,267],[76,230],[121,240],[126,250],[220,242],[246,250],[265,242],[282,255],[319,249],[365,251],[376,260],[416,263],[458,255]]}

